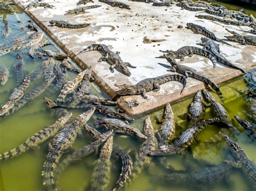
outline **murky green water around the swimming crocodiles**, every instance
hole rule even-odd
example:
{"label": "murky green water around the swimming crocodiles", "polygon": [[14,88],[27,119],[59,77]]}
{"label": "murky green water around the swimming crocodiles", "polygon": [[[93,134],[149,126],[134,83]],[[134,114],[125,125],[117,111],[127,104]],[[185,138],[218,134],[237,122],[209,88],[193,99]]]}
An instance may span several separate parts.
{"label": "murky green water around the swimming crocodiles", "polygon": [[[21,35],[21,26],[25,26],[26,23],[17,23],[17,20],[26,21],[29,18],[24,13],[0,15],[1,21],[3,19],[8,20],[10,27],[10,34],[8,38],[3,38],[3,22],[0,23],[0,43],[12,42],[12,38]],[[56,48],[56,47],[51,47]],[[41,59],[32,60],[28,54],[28,49],[23,49],[21,51],[14,51],[4,56],[0,57],[0,61],[9,69],[10,76],[8,82],[5,86],[0,87],[0,105],[4,104],[10,95],[10,91],[15,88],[15,75],[13,73],[13,65],[16,63],[16,54],[20,53],[23,56],[25,63],[26,73],[35,70],[41,63]],[[57,62],[57,61],[56,61]],[[68,73],[68,78],[73,79],[75,75]],[[39,86],[42,80],[37,80],[31,83],[28,91]],[[37,131],[45,128],[45,126],[51,125],[56,121],[56,116],[46,108],[43,102],[43,97],[47,96],[53,100],[57,97],[57,93],[52,92],[51,85],[44,93],[38,96],[35,100],[26,104],[23,108],[11,114],[9,117],[2,119],[0,121],[0,153],[6,152],[15,148],[16,146],[22,144],[27,138],[31,137]],[[248,121],[251,121],[250,110],[248,107],[248,102],[244,94],[239,93],[246,89],[246,84],[242,80],[242,76],[237,77],[231,81],[221,84],[221,91],[225,98],[225,108],[232,119],[234,115],[238,115]],[[100,89],[93,84],[91,89],[93,94],[106,96],[100,91]],[[213,92],[212,92],[213,93]],[[213,93],[215,97],[218,97]],[[188,125],[187,121],[181,119],[181,115],[187,112],[188,105],[191,103],[192,98],[188,98],[185,101],[172,104],[172,109],[179,126],[176,127],[176,136],[179,135],[181,131],[184,131]],[[84,110],[69,110],[72,112],[72,118],[78,116]],[[163,114],[164,109],[160,109],[156,112],[149,114],[151,117],[154,129],[157,131],[160,124],[156,123],[156,116]],[[96,112],[91,118],[91,121],[96,118],[99,114]],[[203,119],[213,117],[213,114],[209,108],[205,110]],[[131,125],[143,129],[145,116],[140,116],[136,121],[132,122]],[[235,121],[234,125],[239,128],[239,124]],[[179,155],[174,155],[166,157],[167,161],[176,169],[186,169],[190,167],[191,170],[198,170],[203,165],[200,162],[196,162],[194,159],[205,160],[211,164],[220,164],[221,161],[225,160],[227,154],[229,153],[226,143],[221,141],[219,143],[205,143],[205,140],[214,137],[218,134],[220,128],[217,126],[209,126],[207,129],[199,133],[198,139],[199,143],[194,142],[191,149],[188,150],[189,154],[186,157],[181,157]],[[79,148],[86,144],[92,142],[92,138],[83,132],[84,136],[76,139],[74,147]],[[255,142],[251,143],[250,139],[241,132],[239,135],[235,136],[235,141],[244,148],[248,156],[256,161],[255,154]],[[48,140],[50,142],[50,140]],[[9,159],[7,161],[0,162],[0,190],[44,190],[42,184],[41,172],[43,168],[44,159],[47,154],[47,144],[45,142],[35,150],[29,150],[18,157]],[[140,145],[142,145],[142,140],[129,137],[114,135],[114,143],[120,145],[122,148],[130,150],[130,155],[133,162],[136,160],[135,154]],[[192,156],[194,159],[192,159]],[[84,190],[86,186],[89,185],[91,172],[93,169],[93,161],[98,158],[98,154],[92,153],[88,157],[84,158],[77,164],[70,165],[65,171],[60,175],[58,185],[60,185],[64,190]],[[170,173],[163,166],[161,166],[156,158],[153,159],[155,164],[152,169],[145,167],[142,174],[129,186],[127,190],[191,190],[189,186],[186,186],[185,182],[183,185],[174,186],[170,185],[168,182],[164,182],[162,177],[164,174]],[[120,161],[113,160],[111,166],[111,187],[114,184],[120,173]],[[232,169],[229,173],[230,183],[219,182],[210,190],[251,190],[250,183],[248,183],[246,176],[240,169]],[[195,189],[197,190],[197,189]]]}

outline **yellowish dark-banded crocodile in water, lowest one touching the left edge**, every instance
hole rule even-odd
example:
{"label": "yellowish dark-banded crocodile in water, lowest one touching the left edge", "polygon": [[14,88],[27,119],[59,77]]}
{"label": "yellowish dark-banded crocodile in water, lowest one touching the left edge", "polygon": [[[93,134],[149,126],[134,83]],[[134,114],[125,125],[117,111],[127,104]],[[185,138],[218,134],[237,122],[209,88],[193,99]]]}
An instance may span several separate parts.
{"label": "yellowish dark-banded crocodile in water, lowest one touching the left edge", "polygon": [[64,117],[60,117],[55,123],[38,131],[35,135],[27,139],[23,144],[19,145],[11,151],[1,154],[0,160],[9,159],[15,157],[16,155],[22,154],[30,148],[35,148],[48,138],[55,136],[59,129],[61,129],[63,125],[68,122],[71,115],[72,114],[70,113],[68,115],[65,115]]}

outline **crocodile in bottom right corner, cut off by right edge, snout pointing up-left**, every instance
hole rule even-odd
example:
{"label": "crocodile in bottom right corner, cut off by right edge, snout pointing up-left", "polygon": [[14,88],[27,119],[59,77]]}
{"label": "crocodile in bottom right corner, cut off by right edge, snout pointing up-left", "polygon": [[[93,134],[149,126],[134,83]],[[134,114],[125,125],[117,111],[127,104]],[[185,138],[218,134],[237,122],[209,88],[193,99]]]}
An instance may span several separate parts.
{"label": "crocodile in bottom right corner, cut off by right edge, snout pointing up-left", "polygon": [[256,189],[256,164],[248,158],[245,151],[227,135],[225,135],[225,140],[231,153],[238,160],[237,162],[230,160],[226,160],[225,162],[233,167],[242,168],[248,179],[252,182],[253,188]]}

